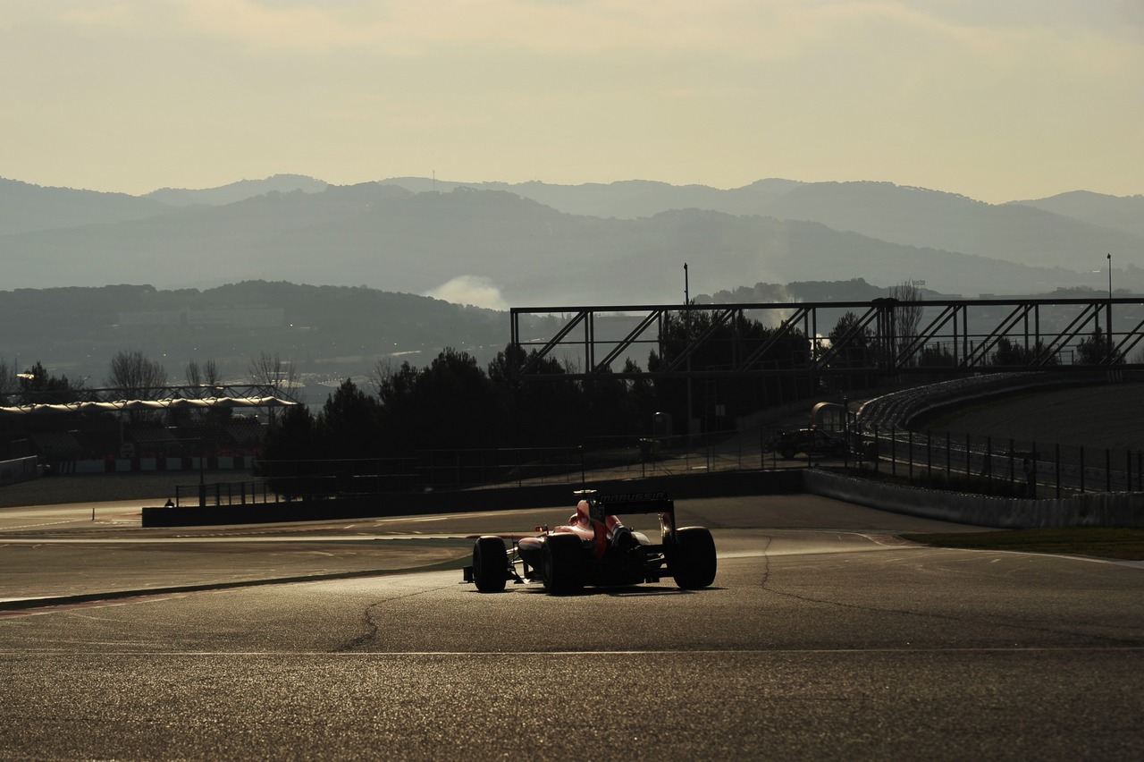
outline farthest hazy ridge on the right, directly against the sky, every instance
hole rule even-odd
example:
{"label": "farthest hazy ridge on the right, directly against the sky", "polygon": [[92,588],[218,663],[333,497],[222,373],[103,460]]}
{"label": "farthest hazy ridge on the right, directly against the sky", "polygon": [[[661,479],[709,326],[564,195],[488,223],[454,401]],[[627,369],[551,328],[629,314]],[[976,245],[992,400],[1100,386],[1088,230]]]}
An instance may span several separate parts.
{"label": "farthest hazy ridge on the right, directly against the sky", "polygon": [[[430,181],[416,178],[383,182],[410,190],[430,186]],[[574,186],[464,185],[436,181],[436,186],[438,190],[496,188],[561,212],[601,217],[635,219],[669,209],[698,208],[819,222],[892,244],[1079,271],[1099,265],[1099,256],[1093,255],[1094,252],[1144,249],[1144,197],[1090,193],[1068,199],[1054,197],[1060,200],[991,205],[956,193],[892,183],[787,180],[763,180],[733,190],[645,181]]]}

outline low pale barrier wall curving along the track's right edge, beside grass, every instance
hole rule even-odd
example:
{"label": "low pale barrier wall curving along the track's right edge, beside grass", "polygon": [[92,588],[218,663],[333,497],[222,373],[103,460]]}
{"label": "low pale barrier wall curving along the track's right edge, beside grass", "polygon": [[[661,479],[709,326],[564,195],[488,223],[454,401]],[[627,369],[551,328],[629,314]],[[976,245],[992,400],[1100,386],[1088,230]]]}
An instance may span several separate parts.
{"label": "low pale barrier wall curving along the track's right edge, beside grass", "polygon": [[898,514],[974,526],[1142,526],[1144,493],[1086,492],[1059,500],[991,498],[964,492],[885,484],[826,469],[803,471],[807,492]]}

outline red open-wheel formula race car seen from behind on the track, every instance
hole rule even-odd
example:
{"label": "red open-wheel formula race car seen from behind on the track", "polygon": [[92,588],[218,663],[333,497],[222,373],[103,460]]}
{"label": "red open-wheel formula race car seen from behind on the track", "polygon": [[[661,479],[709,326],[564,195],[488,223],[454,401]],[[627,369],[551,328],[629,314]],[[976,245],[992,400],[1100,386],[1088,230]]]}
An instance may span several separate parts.
{"label": "red open-wheel formula race car seen from behind on the track", "polygon": [[[715,541],[701,526],[675,526],[675,503],[662,492],[596,495],[577,492],[580,501],[569,523],[537,537],[524,537],[508,549],[490,534],[472,547],[472,565],[464,581],[482,593],[499,593],[508,580],[541,582],[551,594],[579,590],[585,585],[638,585],[673,577],[683,589],[708,587],[715,580]],[[642,532],[625,526],[617,511],[659,514],[661,540],[653,543]]]}

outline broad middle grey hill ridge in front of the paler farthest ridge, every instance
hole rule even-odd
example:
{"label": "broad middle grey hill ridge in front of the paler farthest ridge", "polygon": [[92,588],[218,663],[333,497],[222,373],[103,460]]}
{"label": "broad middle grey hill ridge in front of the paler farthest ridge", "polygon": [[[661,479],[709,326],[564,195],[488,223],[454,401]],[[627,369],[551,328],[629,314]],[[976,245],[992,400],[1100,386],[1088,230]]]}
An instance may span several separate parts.
{"label": "broad middle grey hill ridge in front of the paler farthest ridge", "polygon": [[263,279],[423,294],[475,276],[517,305],[676,301],[683,262],[696,293],[760,280],[857,277],[920,279],[967,295],[1091,285],[1060,268],[904,246],[817,222],[696,208],[602,219],[507,191],[414,193],[380,183],[3,236],[0,262],[11,287],[210,287]]}

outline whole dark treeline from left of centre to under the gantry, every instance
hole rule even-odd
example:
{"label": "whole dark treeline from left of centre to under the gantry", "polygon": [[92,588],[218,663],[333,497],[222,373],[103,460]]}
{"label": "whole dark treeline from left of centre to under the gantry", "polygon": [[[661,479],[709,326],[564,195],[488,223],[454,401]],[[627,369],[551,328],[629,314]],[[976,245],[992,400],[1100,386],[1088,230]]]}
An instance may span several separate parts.
{"label": "whole dark treeline from left of centre to under the gantry", "polygon": [[[673,316],[665,323],[658,350],[649,354],[648,373],[631,359],[622,374],[578,376],[574,368],[543,357],[522,379],[530,356],[517,346],[480,367],[467,352],[446,349],[428,366],[404,363],[379,374],[376,389],[344,381],[317,413],[288,410],[268,435],[264,462],[410,458],[444,449],[550,447],[589,440],[653,435],[653,419],[667,414],[686,430],[690,418],[702,430],[732,426],[737,415],[811,394],[810,383],[791,373],[744,379],[667,378],[657,372],[683,358],[688,336],[706,336],[688,367],[726,368],[731,351],[747,355],[772,342],[763,366],[793,370],[809,359],[802,333],[779,333],[739,317],[713,325],[707,312]],[[776,339],[778,336],[778,339]],[[732,340],[733,339],[733,340]],[[734,348],[732,350],[732,347]],[[722,416],[716,416],[716,412]],[[664,418],[662,415],[660,416]],[[662,434],[660,431],[659,434]]]}

